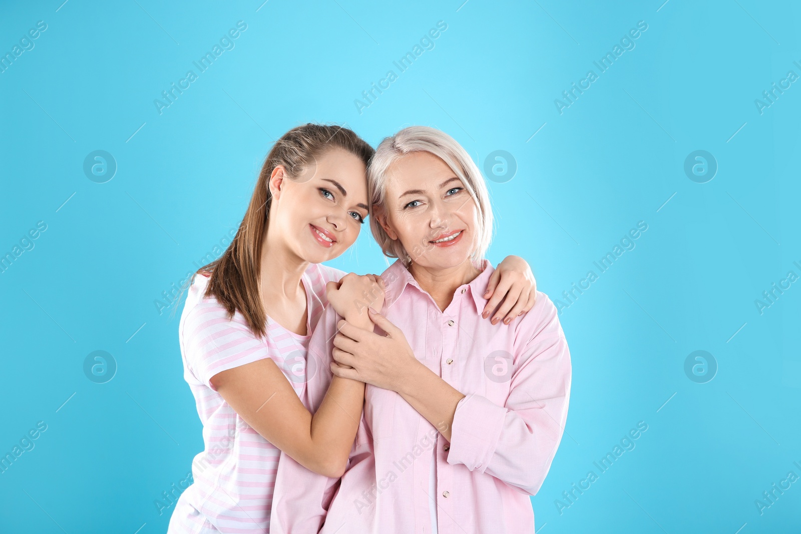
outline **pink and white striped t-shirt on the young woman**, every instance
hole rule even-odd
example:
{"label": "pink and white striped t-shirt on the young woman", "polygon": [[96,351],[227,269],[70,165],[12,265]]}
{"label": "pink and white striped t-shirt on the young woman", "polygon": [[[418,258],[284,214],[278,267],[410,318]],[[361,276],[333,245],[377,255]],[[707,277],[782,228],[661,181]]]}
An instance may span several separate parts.
{"label": "pink and white striped t-shirt on the young woman", "polygon": [[239,311],[228,319],[216,299],[204,299],[208,278],[195,276],[179,323],[179,342],[183,378],[195,395],[205,447],[192,461],[194,482],[179,497],[168,534],[200,528],[269,532],[280,450],[239,417],[211,387],[210,379],[220,371],[271,358],[302,399],[307,372],[317,371],[311,366],[307,370],[306,354],[311,333],[328,303],[325,284],[338,282],[344,275],[332,267],[309,264],[302,276],[308,335],[288,331],[268,317],[266,339],[252,335]]}

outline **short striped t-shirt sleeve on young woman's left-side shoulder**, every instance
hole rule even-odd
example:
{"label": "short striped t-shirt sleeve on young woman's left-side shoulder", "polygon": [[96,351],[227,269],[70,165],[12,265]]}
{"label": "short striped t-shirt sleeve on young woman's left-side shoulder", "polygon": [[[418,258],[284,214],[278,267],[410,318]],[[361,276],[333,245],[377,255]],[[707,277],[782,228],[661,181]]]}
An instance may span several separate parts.
{"label": "short striped t-shirt sleeve on young woman's left-side shoulder", "polygon": [[237,311],[229,319],[219,303],[198,303],[183,323],[187,366],[212,390],[211,377],[221,371],[269,358],[267,343],[253,335]]}

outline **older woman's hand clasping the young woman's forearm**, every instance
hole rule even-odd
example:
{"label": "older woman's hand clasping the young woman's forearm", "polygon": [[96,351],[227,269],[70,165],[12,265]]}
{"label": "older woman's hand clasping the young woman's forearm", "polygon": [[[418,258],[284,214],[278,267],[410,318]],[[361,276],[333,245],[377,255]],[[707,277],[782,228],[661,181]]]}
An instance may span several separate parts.
{"label": "older woman's hand clasping the young woman's forearm", "polygon": [[406,336],[384,315],[369,310],[370,319],[386,335],[375,334],[340,320],[334,337],[331,371],[342,378],[360,380],[391,391],[403,391],[416,366]]}

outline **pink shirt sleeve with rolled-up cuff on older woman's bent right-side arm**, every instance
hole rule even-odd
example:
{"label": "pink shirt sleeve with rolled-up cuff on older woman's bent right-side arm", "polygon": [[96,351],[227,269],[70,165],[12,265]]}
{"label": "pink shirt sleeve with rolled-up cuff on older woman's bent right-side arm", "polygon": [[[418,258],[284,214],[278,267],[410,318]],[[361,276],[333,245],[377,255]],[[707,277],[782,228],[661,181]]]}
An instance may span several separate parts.
{"label": "pink shirt sleeve with rolled-up cuff on older woman's bent right-side arm", "polygon": [[461,399],[448,456],[449,464],[485,472],[532,496],[562,440],[570,399],[570,351],[556,307],[545,300],[541,313],[521,320],[505,405],[476,394]]}

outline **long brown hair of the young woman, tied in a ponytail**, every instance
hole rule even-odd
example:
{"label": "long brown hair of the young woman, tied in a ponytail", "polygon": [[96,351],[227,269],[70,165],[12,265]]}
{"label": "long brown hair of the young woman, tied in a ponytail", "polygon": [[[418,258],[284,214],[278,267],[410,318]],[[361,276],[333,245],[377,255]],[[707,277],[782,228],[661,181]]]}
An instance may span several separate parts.
{"label": "long brown hair of the young woman, tied in a ponytail", "polygon": [[267,314],[260,299],[259,275],[262,236],[268,224],[272,200],[268,187],[270,176],[278,165],[283,165],[288,177],[294,179],[310,160],[332,148],[356,155],[365,166],[375,152],[355,132],[341,126],[308,123],[289,130],[276,141],[264,160],[248,211],[245,211],[231,244],[223,255],[195,273],[211,273],[204,296],[217,299],[229,317],[239,310],[257,337],[264,337],[266,333]]}

